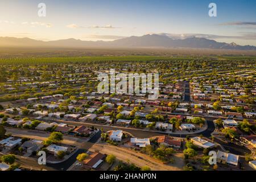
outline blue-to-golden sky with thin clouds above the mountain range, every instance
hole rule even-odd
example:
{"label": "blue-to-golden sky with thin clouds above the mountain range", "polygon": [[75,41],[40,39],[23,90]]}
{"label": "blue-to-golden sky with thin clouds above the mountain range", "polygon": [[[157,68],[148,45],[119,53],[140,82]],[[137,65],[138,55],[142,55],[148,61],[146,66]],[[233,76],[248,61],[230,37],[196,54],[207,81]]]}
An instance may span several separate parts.
{"label": "blue-to-golden sky with thin clouds above the mountain range", "polygon": [[[209,3],[216,3],[216,17]],[[255,0],[0,0],[0,36],[109,41],[164,34],[256,46],[255,7]]]}

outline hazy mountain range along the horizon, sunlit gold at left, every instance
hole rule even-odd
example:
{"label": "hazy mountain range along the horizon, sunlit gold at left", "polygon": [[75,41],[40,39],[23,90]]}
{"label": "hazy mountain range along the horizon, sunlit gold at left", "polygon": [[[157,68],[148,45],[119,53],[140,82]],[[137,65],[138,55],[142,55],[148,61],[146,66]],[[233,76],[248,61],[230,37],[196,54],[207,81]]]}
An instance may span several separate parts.
{"label": "hazy mountain range along the horizon, sunlit gold at left", "polygon": [[205,38],[172,39],[166,35],[143,35],[130,36],[109,42],[83,41],[77,39],[64,39],[44,42],[30,38],[0,37],[1,47],[127,47],[127,48],[206,48],[206,49],[233,49],[233,50],[256,50],[255,46],[239,46],[236,43],[220,43]]}

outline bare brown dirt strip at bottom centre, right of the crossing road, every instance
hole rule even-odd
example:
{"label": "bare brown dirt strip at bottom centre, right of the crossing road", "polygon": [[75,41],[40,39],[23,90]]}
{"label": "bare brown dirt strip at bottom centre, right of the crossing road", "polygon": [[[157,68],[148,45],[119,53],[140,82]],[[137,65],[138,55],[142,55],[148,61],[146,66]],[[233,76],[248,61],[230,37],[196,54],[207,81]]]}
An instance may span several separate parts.
{"label": "bare brown dirt strip at bottom centre, right of the crossing road", "polygon": [[110,144],[94,144],[90,150],[100,151],[102,154],[113,154],[119,160],[125,162],[129,160],[136,166],[148,166],[154,171],[180,171],[184,166],[183,154],[181,153],[175,154],[174,164],[166,165],[160,162],[160,160],[153,159],[148,155],[130,150],[129,148],[112,146]]}

